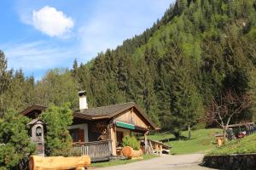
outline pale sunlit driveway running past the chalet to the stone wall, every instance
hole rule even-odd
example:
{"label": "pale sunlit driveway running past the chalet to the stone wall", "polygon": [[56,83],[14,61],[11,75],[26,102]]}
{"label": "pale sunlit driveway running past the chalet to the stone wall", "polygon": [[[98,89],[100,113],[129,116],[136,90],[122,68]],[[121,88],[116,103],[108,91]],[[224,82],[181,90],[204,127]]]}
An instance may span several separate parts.
{"label": "pale sunlit driveway running past the chalet to the stone wall", "polygon": [[207,167],[201,167],[198,164],[201,163],[203,154],[189,154],[180,156],[160,156],[154,159],[146,161],[136,161],[133,163],[119,165],[114,167],[102,167],[96,168],[96,170],[204,170],[211,169]]}

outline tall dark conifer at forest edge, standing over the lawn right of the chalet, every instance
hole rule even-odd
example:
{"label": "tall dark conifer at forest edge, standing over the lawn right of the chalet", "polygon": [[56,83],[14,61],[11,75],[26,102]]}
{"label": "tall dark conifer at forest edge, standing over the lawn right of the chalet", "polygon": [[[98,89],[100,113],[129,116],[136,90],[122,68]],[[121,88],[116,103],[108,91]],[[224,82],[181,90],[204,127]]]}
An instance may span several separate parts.
{"label": "tall dark conifer at forest edge, standing over the lawn right of the chalet", "polygon": [[160,108],[163,111],[162,122],[164,122],[164,128],[178,138],[182,130],[195,125],[199,116],[202,116],[201,96],[191,80],[193,77],[191,59],[186,59],[177,52],[172,53],[172,50],[169,50],[164,62],[167,64],[163,64],[165,65],[162,67],[163,73],[166,74],[166,71],[169,71],[171,76],[165,76],[162,79],[161,86],[164,86],[162,88],[164,93],[160,94],[160,99],[164,99],[162,103],[168,102],[167,108]]}

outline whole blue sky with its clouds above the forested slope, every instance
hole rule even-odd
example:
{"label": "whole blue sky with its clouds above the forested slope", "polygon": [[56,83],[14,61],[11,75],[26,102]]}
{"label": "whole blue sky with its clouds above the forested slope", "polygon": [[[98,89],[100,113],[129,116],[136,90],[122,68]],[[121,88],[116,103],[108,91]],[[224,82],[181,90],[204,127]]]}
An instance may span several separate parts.
{"label": "whole blue sky with its clouds above the forested slope", "polygon": [[174,0],[3,0],[0,49],[37,80],[142,33]]}

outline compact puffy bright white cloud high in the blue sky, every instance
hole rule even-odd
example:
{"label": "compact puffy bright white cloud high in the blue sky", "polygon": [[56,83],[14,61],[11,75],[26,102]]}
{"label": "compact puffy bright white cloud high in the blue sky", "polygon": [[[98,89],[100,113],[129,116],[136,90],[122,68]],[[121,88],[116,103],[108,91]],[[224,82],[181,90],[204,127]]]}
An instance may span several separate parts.
{"label": "compact puffy bright white cloud high in the blue sky", "polygon": [[65,37],[73,28],[73,20],[53,7],[45,6],[32,13],[33,26],[50,37]]}

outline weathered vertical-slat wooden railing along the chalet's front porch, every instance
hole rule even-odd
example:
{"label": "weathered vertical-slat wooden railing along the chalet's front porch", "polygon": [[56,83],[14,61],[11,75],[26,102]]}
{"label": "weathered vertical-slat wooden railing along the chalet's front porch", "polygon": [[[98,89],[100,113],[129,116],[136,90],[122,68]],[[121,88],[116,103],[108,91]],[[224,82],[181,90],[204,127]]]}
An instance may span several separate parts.
{"label": "weathered vertical-slat wooden railing along the chalet's front porch", "polygon": [[76,156],[90,156],[91,161],[105,161],[112,156],[111,140],[73,144],[72,153]]}

